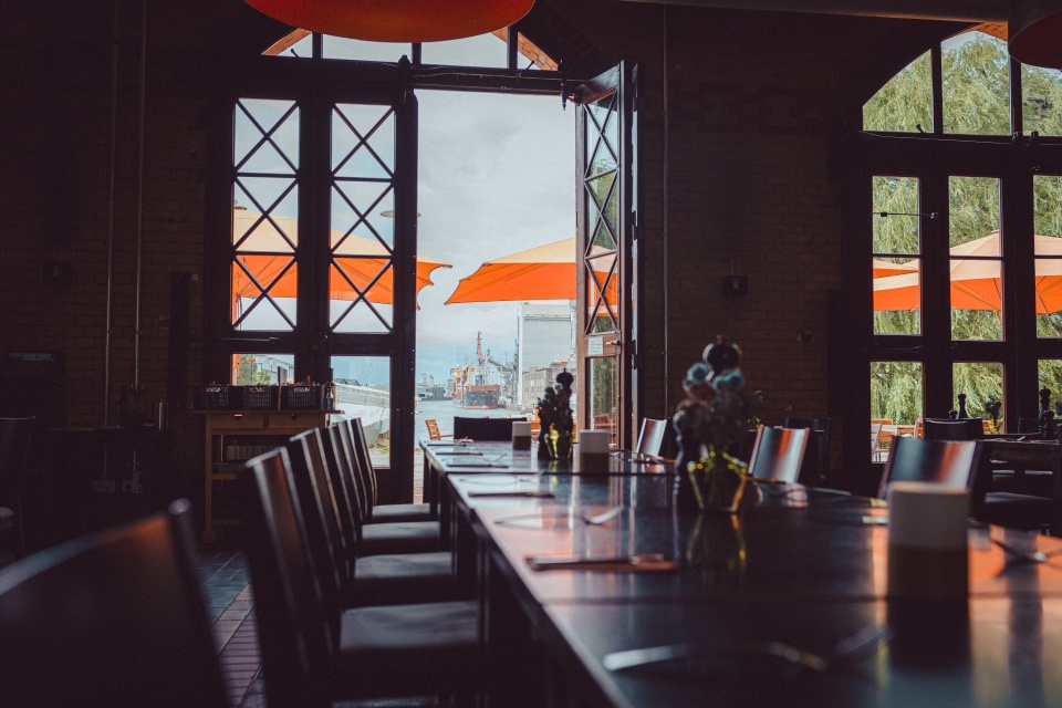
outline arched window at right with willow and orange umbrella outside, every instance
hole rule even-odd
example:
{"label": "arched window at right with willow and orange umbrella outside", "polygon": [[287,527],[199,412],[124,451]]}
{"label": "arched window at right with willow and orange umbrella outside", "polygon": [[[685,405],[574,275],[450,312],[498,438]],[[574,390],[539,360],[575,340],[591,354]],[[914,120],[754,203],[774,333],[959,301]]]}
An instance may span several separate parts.
{"label": "arched window at right with willow and orange umbrella outside", "polygon": [[965,394],[1017,431],[1041,387],[1062,400],[1062,74],[962,32],[866,102],[858,143],[870,418],[916,434]]}

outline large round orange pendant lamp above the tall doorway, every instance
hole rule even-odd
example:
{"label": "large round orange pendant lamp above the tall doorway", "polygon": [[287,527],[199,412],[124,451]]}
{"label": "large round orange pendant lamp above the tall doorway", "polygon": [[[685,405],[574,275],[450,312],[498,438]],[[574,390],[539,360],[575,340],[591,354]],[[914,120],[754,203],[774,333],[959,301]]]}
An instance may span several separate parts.
{"label": "large round orange pendant lamp above the tall doorway", "polygon": [[303,30],[374,42],[439,42],[509,27],[534,0],[246,0]]}

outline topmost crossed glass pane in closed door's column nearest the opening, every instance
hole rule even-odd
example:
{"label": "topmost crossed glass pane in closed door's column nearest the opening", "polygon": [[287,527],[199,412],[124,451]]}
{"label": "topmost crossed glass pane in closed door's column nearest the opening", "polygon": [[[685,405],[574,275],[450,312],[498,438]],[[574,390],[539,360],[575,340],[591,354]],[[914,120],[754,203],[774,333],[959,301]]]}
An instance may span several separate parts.
{"label": "topmost crossed glass pane in closed door's column nearest the opening", "polygon": [[389,178],[395,169],[391,106],[340,104],[332,112],[332,171],[339,177]]}

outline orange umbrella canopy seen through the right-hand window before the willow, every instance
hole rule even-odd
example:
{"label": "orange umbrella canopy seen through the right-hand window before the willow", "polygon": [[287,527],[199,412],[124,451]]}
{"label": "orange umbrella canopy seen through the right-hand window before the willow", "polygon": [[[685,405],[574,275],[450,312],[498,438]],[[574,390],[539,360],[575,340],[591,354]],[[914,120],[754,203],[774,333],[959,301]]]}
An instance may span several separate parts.
{"label": "orange umbrella canopy seen through the right-hand window before the willow", "polygon": [[[1062,256],[1062,239],[1035,236],[1037,256]],[[1000,310],[1000,261],[954,258],[999,256],[999,232],[951,249],[951,308],[954,310]],[[1037,260],[1037,313],[1062,311],[1062,260]],[[920,304],[917,271],[874,280],[875,310],[917,310]]]}

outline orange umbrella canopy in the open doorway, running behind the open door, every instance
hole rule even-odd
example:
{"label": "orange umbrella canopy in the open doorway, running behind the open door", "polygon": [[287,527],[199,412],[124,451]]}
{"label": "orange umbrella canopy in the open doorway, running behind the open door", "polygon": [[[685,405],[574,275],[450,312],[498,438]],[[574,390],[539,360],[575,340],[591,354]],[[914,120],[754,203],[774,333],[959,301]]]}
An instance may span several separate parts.
{"label": "orange umbrella canopy in the open doorway, running behind the open door", "polygon": [[[597,279],[603,284],[607,275],[598,272]],[[594,293],[592,284],[590,288]],[[615,304],[615,277],[608,283],[607,298]],[[487,261],[461,279],[445,304],[522,300],[575,300],[574,238]]]}

